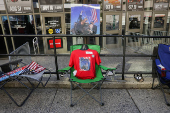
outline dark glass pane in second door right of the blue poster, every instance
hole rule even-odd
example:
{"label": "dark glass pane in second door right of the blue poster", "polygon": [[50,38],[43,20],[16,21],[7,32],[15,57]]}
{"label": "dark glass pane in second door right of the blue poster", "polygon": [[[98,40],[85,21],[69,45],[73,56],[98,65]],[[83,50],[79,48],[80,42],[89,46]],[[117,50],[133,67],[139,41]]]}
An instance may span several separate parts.
{"label": "dark glass pane in second door right of the blue poster", "polygon": [[129,29],[140,29],[141,15],[129,15]]}

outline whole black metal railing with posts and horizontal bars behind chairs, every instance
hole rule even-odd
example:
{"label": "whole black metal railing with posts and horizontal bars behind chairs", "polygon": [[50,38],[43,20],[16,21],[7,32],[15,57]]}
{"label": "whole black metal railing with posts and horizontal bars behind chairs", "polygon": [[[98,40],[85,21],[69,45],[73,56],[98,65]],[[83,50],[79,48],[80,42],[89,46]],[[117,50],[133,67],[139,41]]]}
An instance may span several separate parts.
{"label": "whole black metal railing with posts and horizontal bars behind chairs", "polygon": [[[148,55],[148,54],[140,54],[140,55],[132,55],[132,54],[126,54],[126,38],[134,37],[137,39],[145,39],[148,38],[154,39],[154,38],[160,38],[160,39],[168,39],[170,36],[145,36],[145,35],[0,35],[1,37],[53,37],[53,45],[55,45],[55,37],[120,37],[123,41],[123,54],[100,54],[102,57],[122,57],[122,72],[116,72],[116,74],[122,74],[122,80],[124,80],[124,74],[154,74],[152,72],[140,72],[140,71],[133,71],[133,72],[125,72],[125,59],[126,57],[156,57],[154,55]],[[169,42],[168,42],[169,43]],[[56,46],[54,46],[54,54],[0,54],[0,56],[54,56],[55,57],[55,72],[46,72],[45,74],[57,74],[57,80],[60,80],[58,73],[58,63],[57,63],[57,56],[69,56],[67,54],[56,54]]]}

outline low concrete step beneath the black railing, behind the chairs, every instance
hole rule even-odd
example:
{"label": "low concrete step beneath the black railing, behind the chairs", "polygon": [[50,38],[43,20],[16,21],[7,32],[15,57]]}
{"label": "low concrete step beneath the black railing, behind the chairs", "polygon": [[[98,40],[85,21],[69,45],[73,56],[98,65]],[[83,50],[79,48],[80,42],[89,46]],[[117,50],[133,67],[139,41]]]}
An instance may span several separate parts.
{"label": "low concrete step beneath the black railing, behind the chairs", "polygon": [[[150,89],[152,87],[152,77],[144,78],[143,82],[137,82],[134,78],[128,77],[125,80],[113,80],[113,81],[105,81],[102,85],[102,88],[128,88],[128,89]],[[34,82],[34,81],[33,81]],[[24,84],[29,85],[27,81],[23,81]],[[36,83],[36,82],[35,82]],[[45,81],[43,81],[45,83]],[[158,84],[158,81],[155,79],[155,84]],[[91,84],[81,84],[83,88],[91,88]],[[24,87],[22,84],[16,81],[9,82],[5,85],[5,87]],[[42,87],[41,85],[39,87]],[[48,82],[48,88],[70,88],[70,82],[68,78],[61,77],[61,80],[52,79]]]}

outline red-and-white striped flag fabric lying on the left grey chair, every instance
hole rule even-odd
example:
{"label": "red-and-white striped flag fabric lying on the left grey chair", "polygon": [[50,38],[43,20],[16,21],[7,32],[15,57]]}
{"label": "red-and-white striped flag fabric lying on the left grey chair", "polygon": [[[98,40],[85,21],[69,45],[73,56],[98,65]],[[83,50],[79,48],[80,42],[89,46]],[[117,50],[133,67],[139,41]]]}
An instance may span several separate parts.
{"label": "red-and-white striped flag fabric lying on the left grey chair", "polygon": [[20,74],[37,74],[45,69],[46,68],[44,68],[43,66],[32,61],[32,63],[29,64]]}

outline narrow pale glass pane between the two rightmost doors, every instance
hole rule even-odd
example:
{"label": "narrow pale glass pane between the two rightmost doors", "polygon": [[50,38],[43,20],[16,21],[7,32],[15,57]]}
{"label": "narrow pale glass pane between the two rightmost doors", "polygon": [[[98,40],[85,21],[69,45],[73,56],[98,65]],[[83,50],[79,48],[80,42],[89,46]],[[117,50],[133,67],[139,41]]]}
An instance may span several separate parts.
{"label": "narrow pale glass pane between the two rightmost doors", "polygon": [[152,12],[144,12],[143,34],[150,35]]}

